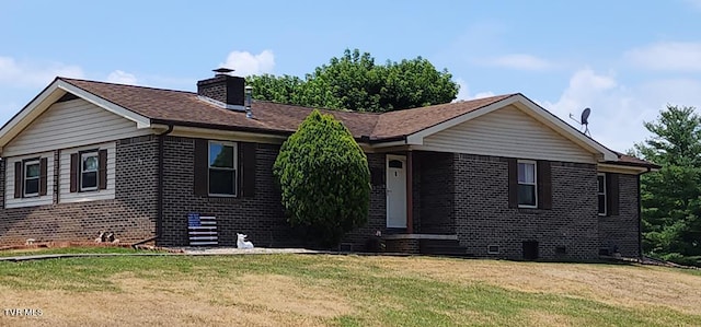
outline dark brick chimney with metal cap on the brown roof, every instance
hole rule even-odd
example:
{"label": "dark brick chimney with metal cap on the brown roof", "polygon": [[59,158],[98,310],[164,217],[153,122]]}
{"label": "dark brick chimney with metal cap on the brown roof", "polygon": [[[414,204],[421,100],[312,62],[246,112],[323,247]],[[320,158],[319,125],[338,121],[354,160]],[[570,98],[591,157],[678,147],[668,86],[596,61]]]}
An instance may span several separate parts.
{"label": "dark brick chimney with metal cap on the brown roof", "polygon": [[232,71],[228,68],[215,69],[214,78],[197,82],[197,94],[225,104],[229,109],[245,110],[243,90],[245,80],[230,75]]}

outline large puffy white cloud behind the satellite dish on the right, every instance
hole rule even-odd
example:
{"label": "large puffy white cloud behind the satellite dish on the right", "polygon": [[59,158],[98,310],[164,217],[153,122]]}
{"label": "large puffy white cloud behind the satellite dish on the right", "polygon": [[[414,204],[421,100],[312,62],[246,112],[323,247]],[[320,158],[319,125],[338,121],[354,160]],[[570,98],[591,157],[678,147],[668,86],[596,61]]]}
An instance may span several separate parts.
{"label": "large puffy white cloud behind the satellite dish on the right", "polygon": [[589,68],[576,71],[556,102],[542,106],[579,129],[576,119],[586,107],[591,108],[591,137],[609,149],[624,152],[651,135],[643,121],[653,121],[667,104],[701,105],[701,82],[674,79],[652,80],[636,85],[621,85],[613,73],[597,73]]}

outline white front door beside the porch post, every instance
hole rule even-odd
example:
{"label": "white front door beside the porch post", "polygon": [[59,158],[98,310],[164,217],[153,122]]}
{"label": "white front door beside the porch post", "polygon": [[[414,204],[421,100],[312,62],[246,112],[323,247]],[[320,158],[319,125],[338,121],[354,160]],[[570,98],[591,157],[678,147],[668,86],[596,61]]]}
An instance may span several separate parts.
{"label": "white front door beside the porch post", "polygon": [[387,226],[406,227],[406,156],[387,155]]}

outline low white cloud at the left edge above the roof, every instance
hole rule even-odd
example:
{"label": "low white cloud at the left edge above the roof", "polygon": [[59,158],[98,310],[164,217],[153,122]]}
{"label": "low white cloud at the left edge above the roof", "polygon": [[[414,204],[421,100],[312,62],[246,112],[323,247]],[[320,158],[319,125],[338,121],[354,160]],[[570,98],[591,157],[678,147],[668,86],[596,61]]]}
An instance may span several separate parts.
{"label": "low white cloud at the left edge above the roof", "polygon": [[60,62],[16,61],[12,57],[0,56],[0,84],[12,86],[45,86],[56,77],[84,77],[78,66]]}

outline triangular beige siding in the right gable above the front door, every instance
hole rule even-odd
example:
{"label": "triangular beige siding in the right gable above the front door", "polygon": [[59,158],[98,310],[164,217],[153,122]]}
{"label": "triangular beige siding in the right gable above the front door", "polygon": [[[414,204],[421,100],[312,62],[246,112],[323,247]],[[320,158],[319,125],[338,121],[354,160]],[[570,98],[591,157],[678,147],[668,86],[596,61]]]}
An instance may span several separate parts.
{"label": "triangular beige siding in the right gable above the front door", "polygon": [[507,106],[424,139],[417,150],[595,163],[595,156],[515,106]]}

